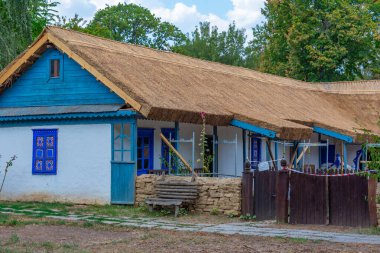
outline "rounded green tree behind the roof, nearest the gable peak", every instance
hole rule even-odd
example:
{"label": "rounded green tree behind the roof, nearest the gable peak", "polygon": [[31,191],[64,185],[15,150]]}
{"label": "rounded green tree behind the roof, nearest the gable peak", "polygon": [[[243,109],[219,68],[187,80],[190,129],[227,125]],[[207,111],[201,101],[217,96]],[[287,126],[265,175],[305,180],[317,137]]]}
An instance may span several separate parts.
{"label": "rounded green tree behind the roof, nearest the gable peak", "polygon": [[162,50],[170,50],[185,38],[176,26],[162,22],[147,8],[126,3],[97,11],[85,30],[97,36]]}

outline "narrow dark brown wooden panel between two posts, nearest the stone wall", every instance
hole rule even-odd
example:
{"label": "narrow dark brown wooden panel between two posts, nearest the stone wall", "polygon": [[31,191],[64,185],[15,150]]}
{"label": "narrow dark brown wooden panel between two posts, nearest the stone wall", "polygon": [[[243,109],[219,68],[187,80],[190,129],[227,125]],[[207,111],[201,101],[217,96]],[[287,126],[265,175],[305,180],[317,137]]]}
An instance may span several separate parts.
{"label": "narrow dark brown wooden panel between two posts, nearest the stone wall", "polygon": [[276,218],[276,179],[277,171],[255,171],[254,204],[257,220],[274,220]]}

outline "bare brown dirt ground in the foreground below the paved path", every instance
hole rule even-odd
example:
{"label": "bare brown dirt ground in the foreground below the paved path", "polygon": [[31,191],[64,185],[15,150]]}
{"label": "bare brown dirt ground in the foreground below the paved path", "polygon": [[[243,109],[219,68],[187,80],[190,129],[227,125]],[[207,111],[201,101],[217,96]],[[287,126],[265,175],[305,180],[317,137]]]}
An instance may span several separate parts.
{"label": "bare brown dirt ground in the foreground below the paved path", "polygon": [[379,252],[378,245],[99,225],[0,226],[1,252]]}

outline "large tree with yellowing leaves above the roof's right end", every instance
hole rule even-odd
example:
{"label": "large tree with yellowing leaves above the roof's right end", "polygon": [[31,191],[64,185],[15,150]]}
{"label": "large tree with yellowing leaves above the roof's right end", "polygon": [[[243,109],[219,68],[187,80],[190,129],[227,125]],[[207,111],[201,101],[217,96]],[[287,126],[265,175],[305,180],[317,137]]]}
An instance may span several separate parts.
{"label": "large tree with yellowing leaves above the roof's right end", "polygon": [[305,81],[379,75],[379,3],[372,0],[274,0],[247,49],[258,70]]}

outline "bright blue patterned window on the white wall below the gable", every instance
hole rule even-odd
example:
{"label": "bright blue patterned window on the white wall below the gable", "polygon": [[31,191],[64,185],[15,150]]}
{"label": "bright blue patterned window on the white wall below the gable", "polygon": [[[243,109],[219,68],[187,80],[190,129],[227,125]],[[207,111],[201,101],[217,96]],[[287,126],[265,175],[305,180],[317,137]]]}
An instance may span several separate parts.
{"label": "bright blue patterned window on the white wall below the gable", "polygon": [[33,175],[57,174],[57,129],[33,130]]}

